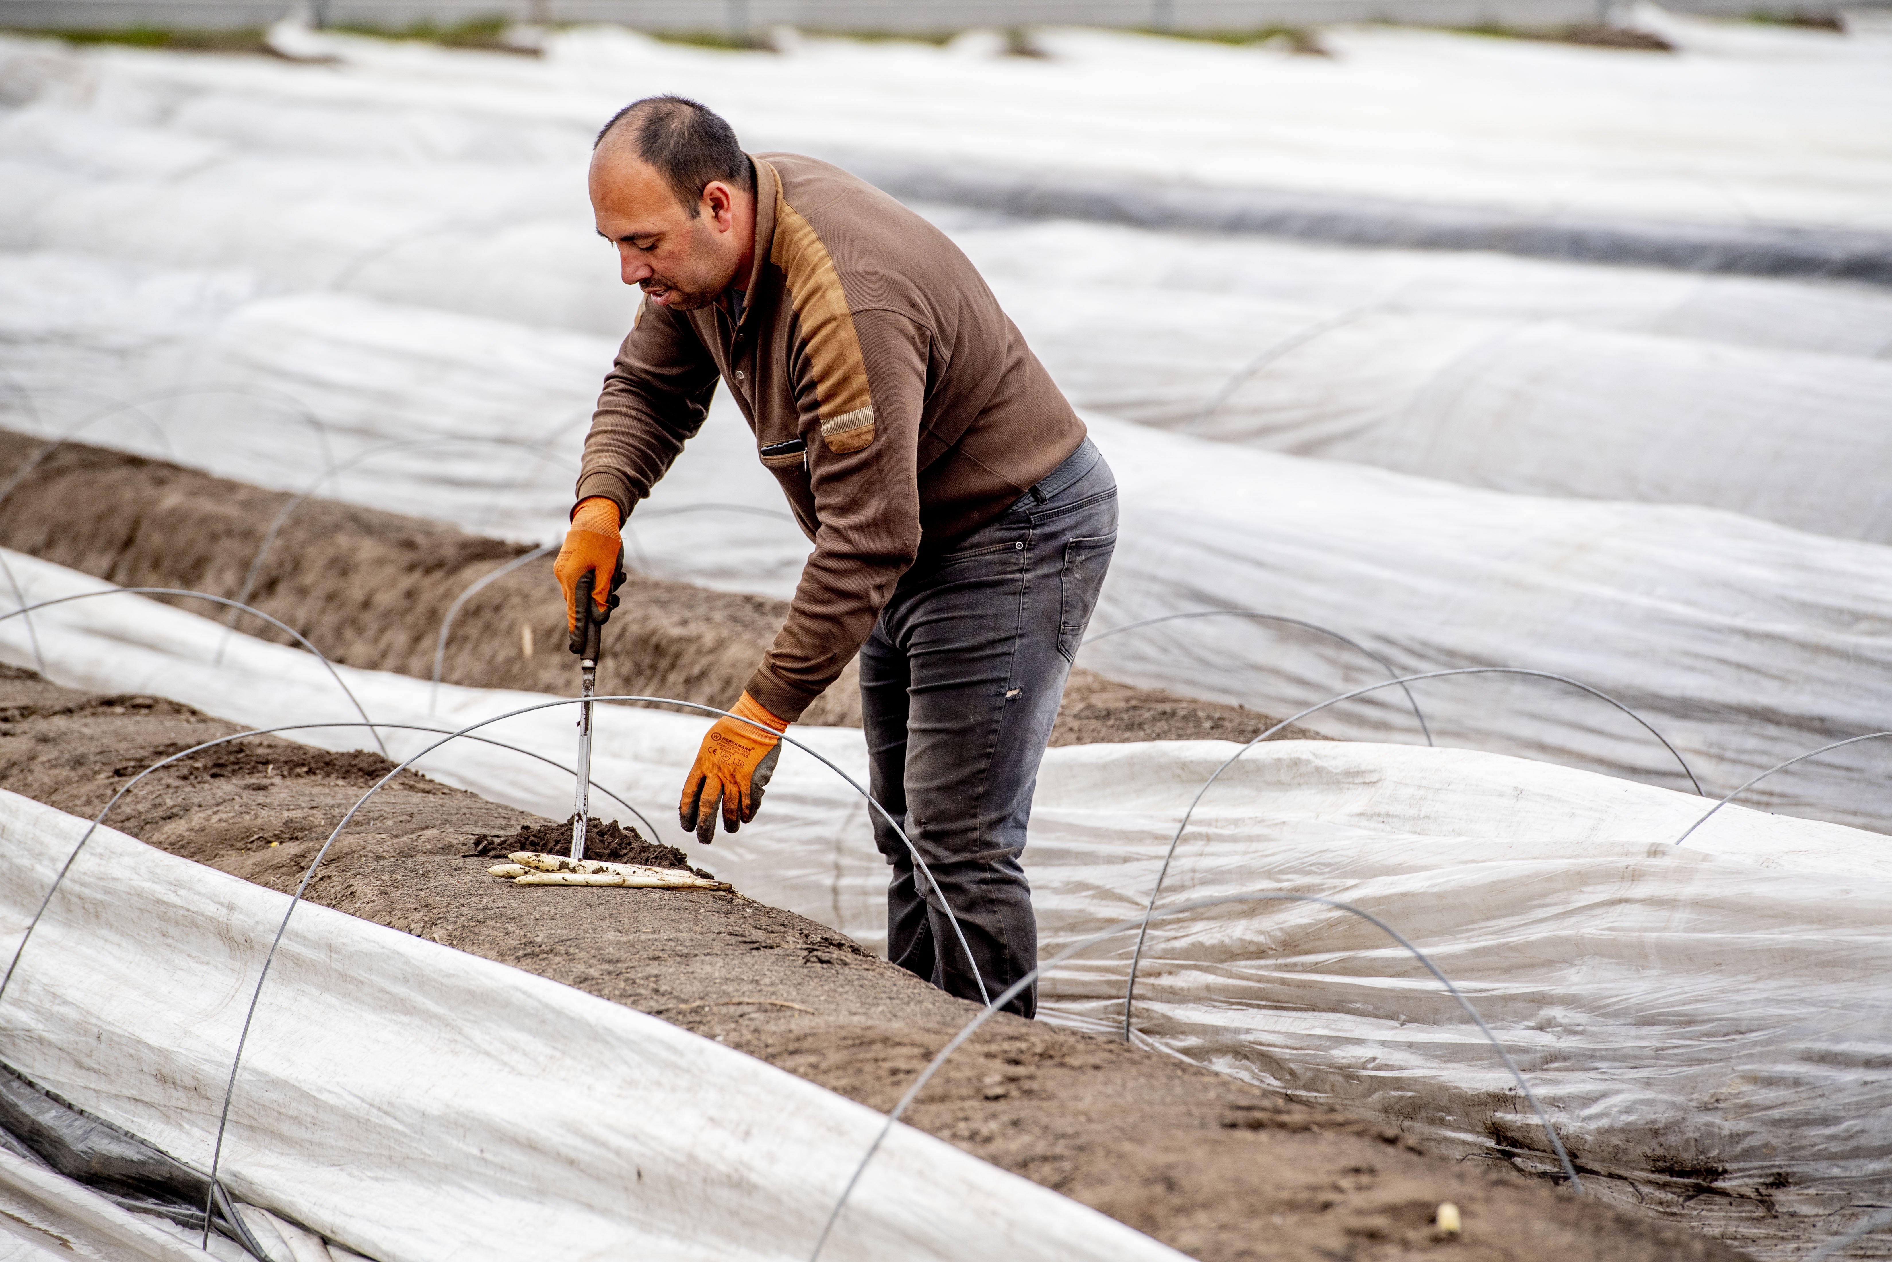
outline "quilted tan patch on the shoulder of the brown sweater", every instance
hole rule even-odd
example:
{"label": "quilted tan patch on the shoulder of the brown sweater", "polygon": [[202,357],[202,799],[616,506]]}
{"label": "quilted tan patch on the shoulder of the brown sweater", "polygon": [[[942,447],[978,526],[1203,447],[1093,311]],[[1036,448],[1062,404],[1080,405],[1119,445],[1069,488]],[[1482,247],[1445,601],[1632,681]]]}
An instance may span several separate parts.
{"label": "quilted tan patch on the shoulder of the brown sweater", "polygon": [[867,359],[853,329],[853,312],[848,310],[840,274],[819,233],[783,199],[780,184],[768,259],[787,276],[789,303],[808,344],[821,409],[821,441],[836,454],[857,452],[874,441],[874,395],[867,384]]}

